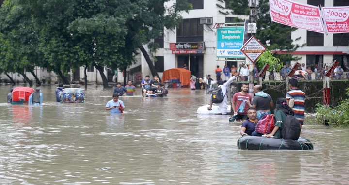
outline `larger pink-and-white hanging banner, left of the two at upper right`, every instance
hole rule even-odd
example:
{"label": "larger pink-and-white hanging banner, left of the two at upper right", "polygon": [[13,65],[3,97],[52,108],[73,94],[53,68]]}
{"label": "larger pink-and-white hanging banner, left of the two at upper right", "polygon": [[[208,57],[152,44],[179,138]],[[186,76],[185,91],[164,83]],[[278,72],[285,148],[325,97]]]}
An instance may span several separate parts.
{"label": "larger pink-and-white hanging banner, left of the two at upper right", "polygon": [[317,6],[291,0],[269,0],[271,21],[318,33],[325,29]]}

